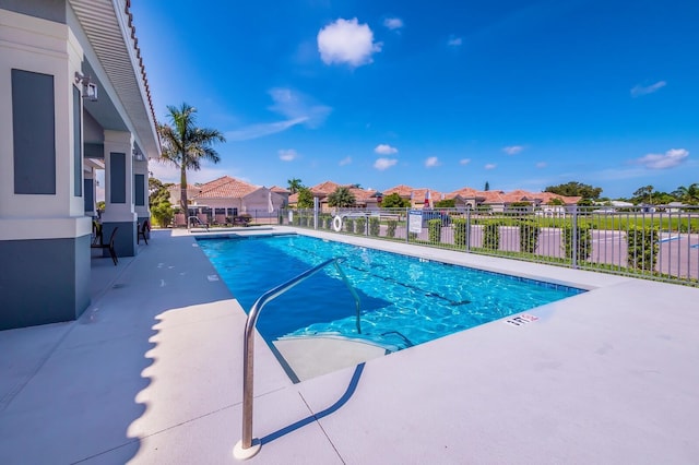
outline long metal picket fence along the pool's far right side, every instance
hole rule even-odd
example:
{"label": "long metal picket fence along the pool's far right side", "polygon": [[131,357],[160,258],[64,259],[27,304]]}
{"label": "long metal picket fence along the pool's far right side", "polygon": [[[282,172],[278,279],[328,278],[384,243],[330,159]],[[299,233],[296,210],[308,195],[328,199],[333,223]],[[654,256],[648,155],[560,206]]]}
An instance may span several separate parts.
{"label": "long metal picket fence along the pool's far right side", "polygon": [[280,213],[284,225],[699,286],[699,207]]}

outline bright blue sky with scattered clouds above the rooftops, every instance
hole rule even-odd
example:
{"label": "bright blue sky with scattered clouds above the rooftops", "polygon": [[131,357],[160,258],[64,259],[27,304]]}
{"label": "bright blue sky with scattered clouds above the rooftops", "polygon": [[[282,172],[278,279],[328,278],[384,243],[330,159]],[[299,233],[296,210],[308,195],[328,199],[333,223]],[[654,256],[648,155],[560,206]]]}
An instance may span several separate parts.
{"label": "bright blue sky with scattered clouds above the rooftops", "polygon": [[[186,102],[229,175],[603,196],[699,182],[694,0],[144,1],[156,117]],[[174,169],[154,175],[178,181]]]}

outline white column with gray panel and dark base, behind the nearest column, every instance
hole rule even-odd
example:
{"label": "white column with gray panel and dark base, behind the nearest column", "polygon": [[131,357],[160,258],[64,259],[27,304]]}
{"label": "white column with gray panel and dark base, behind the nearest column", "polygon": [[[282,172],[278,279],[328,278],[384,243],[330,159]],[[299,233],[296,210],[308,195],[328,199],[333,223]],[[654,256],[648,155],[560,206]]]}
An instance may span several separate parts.
{"label": "white column with gray panel and dark base, behind the nearest column", "polygon": [[119,228],[115,236],[118,257],[138,253],[133,191],[133,136],[130,132],[105,130],[105,213],[102,226],[105,241],[109,240],[115,228]]}

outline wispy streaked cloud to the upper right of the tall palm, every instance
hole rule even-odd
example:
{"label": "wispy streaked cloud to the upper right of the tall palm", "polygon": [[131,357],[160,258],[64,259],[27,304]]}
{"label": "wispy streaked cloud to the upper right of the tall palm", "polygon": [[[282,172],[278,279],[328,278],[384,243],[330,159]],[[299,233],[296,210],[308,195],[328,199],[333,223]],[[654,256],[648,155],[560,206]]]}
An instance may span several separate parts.
{"label": "wispy streaked cloud to the upper right of the tall palm", "polygon": [[269,109],[284,116],[286,119],[284,121],[250,124],[242,129],[227,131],[225,133],[227,141],[248,141],[263,138],[286,131],[297,124],[305,124],[315,129],[322,124],[332,111],[332,108],[318,104],[311,97],[291,88],[275,87],[270,90],[269,94],[274,102]]}

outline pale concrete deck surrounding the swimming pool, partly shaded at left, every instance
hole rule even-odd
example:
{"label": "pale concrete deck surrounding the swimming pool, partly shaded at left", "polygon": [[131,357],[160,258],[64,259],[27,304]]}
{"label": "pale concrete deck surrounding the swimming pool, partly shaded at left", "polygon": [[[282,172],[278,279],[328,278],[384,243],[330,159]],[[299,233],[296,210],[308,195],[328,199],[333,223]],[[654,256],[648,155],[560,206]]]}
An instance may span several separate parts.
{"label": "pale concrete deck surrounding the swimming pool, partly shaded at left", "polygon": [[[297,384],[258,337],[249,463],[699,460],[699,288],[328,237],[593,290]],[[0,332],[0,463],[239,463],[246,315],[196,246],[154,230],[78,321]]]}

